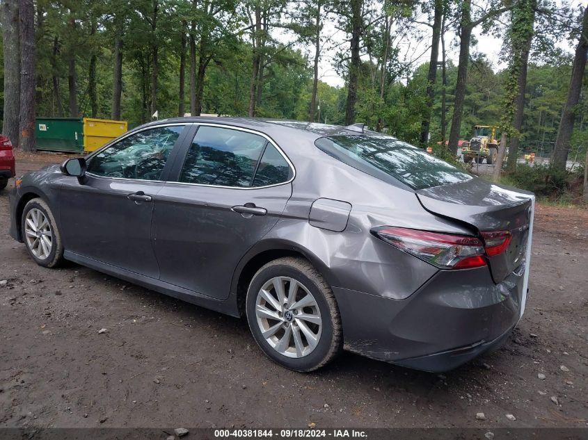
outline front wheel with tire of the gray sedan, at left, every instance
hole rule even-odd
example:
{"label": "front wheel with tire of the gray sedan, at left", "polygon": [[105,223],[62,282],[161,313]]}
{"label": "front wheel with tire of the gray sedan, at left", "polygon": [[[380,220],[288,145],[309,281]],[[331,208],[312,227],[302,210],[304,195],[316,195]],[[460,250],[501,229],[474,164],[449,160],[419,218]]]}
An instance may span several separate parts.
{"label": "front wheel with tire of the gray sedan, at left", "polygon": [[63,263],[63,243],[49,205],[40,198],[29,200],[22,211],[21,229],[26,250],[35,263],[55,268]]}

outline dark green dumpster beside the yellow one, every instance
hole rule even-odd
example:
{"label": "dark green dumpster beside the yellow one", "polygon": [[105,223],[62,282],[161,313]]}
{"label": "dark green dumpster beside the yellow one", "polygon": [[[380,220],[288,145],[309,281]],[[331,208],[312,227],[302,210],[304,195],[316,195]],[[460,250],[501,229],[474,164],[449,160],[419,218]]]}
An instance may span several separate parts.
{"label": "dark green dumpster beside the yellow one", "polygon": [[81,117],[38,117],[35,142],[40,150],[81,153],[84,151],[84,120]]}

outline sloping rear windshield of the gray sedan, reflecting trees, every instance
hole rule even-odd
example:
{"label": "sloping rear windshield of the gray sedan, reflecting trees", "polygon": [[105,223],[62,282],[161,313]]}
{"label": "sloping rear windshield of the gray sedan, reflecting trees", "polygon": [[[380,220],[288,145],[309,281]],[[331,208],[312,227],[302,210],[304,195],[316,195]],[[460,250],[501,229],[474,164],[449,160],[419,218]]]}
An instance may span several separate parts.
{"label": "sloping rear windshield of the gray sedan, reflecting trees", "polygon": [[328,136],[315,145],[353,168],[384,181],[392,177],[415,190],[472,179],[423,149],[389,136]]}

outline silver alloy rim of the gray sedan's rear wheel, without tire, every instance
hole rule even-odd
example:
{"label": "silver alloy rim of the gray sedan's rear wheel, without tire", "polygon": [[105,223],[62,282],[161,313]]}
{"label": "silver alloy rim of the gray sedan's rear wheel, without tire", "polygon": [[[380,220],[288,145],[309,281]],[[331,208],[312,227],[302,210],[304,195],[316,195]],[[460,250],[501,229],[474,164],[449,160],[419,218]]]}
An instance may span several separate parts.
{"label": "silver alloy rim of the gray sedan's rear wheel, without tire", "polygon": [[294,278],[269,279],[257,292],[255,317],[263,338],[280,355],[307,356],[320,341],[322,320],[317,300]]}

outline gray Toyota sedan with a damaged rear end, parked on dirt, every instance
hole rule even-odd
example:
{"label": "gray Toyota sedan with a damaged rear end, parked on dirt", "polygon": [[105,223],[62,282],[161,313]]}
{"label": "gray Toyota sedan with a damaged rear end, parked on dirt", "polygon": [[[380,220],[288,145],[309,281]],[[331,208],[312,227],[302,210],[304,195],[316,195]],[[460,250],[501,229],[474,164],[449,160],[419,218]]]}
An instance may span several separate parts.
{"label": "gray Toyota sedan with a damaged rear end, parked on dirt", "polygon": [[246,316],[292,370],[347,348],[443,371],[521,318],[533,209],[361,124],[189,117],[25,174],[10,234],[41,266]]}

